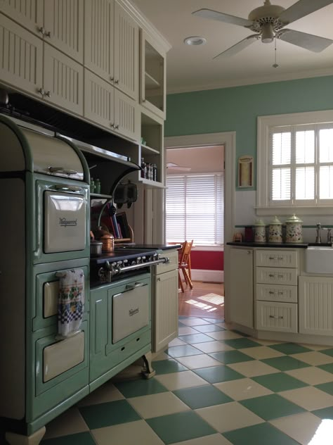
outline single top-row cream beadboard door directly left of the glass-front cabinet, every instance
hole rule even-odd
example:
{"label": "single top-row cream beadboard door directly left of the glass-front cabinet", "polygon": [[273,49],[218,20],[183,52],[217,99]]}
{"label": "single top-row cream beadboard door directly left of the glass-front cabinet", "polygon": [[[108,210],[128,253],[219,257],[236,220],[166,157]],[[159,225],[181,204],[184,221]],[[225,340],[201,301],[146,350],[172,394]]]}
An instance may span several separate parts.
{"label": "single top-row cream beadboard door directly left of the glass-front cabinet", "polygon": [[139,27],[115,2],[115,87],[138,100]]}

